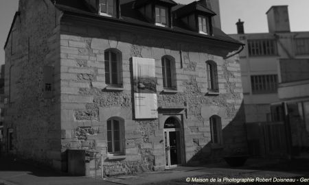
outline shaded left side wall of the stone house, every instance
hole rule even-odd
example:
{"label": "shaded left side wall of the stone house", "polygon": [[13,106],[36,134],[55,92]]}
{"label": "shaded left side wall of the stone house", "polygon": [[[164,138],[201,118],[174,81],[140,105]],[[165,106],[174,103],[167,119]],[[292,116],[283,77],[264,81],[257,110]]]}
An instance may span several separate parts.
{"label": "shaded left side wall of the stone house", "polygon": [[[4,143],[12,128],[10,153],[60,169],[60,97],[45,99],[43,82],[44,66],[60,71],[60,12],[37,0],[19,1],[19,12],[5,47]],[[60,83],[56,77],[54,82],[56,95]]]}

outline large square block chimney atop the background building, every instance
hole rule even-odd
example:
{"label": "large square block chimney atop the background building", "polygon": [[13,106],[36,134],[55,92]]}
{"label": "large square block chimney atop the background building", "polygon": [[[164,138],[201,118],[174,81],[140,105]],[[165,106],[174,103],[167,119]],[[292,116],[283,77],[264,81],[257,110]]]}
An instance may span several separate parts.
{"label": "large square block chimney atop the background building", "polygon": [[288,5],[273,5],[266,14],[270,33],[290,32]]}

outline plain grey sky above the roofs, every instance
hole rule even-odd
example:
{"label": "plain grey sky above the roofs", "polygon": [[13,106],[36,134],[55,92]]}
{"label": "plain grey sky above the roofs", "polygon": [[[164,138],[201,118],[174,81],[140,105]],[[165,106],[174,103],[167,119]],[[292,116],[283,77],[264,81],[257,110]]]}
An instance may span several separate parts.
{"label": "plain grey sky above the roofs", "polygon": [[[39,1],[39,0],[38,0]],[[177,3],[191,3],[194,0],[174,0]],[[236,34],[238,18],[244,21],[244,32],[268,32],[266,12],[272,5],[288,5],[292,32],[309,32],[308,0],[219,0],[222,30]],[[0,0],[0,64],[4,64],[5,40],[8,36],[18,0]]]}

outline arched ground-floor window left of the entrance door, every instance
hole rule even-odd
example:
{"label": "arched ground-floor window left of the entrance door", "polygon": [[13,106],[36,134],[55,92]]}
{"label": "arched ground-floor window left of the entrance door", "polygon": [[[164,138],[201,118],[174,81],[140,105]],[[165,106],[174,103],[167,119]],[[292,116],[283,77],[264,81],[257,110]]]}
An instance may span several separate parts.
{"label": "arched ground-floor window left of the entrance door", "polygon": [[123,136],[122,134],[124,124],[118,119],[109,119],[107,121],[107,151],[109,154],[122,154],[123,152]]}

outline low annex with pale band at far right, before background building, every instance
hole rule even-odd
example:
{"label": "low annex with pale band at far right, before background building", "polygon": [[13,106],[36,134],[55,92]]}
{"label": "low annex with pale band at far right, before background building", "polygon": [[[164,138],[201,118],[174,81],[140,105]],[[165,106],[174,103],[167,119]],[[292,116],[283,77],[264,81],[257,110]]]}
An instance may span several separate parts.
{"label": "low annex with pale band at far right, before background building", "polygon": [[271,105],[272,120],[285,123],[290,155],[308,158],[309,58],[279,60],[278,97],[279,103]]}

